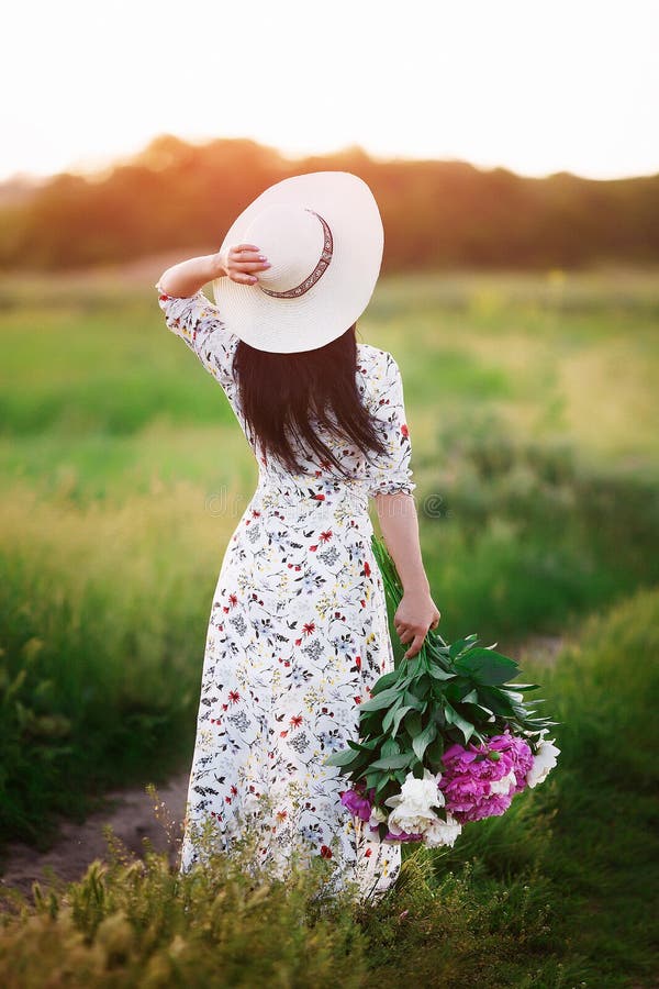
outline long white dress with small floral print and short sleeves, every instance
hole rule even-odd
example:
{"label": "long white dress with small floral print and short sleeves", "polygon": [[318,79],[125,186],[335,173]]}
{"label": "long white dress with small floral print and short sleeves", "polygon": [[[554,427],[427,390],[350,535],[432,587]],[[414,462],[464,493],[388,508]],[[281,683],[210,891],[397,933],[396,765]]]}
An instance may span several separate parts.
{"label": "long white dress with small floral print and short sleeves", "polygon": [[[238,337],[203,292],[156,288],[166,325],[222,386],[247,437],[232,375]],[[256,824],[258,855],[281,877],[293,848],[303,860],[333,859],[334,887],[351,880],[364,898],[400,871],[400,845],[353,816],[340,802],[345,777],[323,764],[358,738],[359,704],[393,669],[368,499],[415,488],[399,367],[369,344],[357,352],[357,385],[387,456],[367,462],[317,422],[349,480],[303,451],[304,471],[291,474],[252,446],[258,484],[226,548],[208,627],[181,871],[202,859],[202,830],[228,851],[245,824]]]}

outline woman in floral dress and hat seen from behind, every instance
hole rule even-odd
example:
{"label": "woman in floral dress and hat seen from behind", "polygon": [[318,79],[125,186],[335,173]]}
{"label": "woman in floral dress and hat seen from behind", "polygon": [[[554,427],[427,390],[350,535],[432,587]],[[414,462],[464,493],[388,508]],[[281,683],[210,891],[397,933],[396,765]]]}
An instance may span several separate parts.
{"label": "woman in floral dress and hat seen from behind", "polygon": [[[324,759],[358,737],[359,703],[393,668],[368,498],[404,586],[405,658],[439,611],[424,573],[399,367],[356,342],[383,232],[368,186],[340,171],[284,179],[232,225],[217,254],[168,268],[167,325],[224,389],[259,467],[231,537],[208,630],[181,871],[254,824],[286,874],[334,859],[335,888],[384,892],[400,845],[354,819]],[[215,303],[202,293],[213,282]],[[263,836],[263,841],[261,841]]]}

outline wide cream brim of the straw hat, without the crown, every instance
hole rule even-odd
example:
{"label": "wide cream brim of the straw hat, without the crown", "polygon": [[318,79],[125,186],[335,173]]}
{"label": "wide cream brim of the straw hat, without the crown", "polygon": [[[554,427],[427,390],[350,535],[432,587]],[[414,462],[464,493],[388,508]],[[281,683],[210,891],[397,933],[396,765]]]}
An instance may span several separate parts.
{"label": "wide cream brim of the straw hat, without the crown", "polygon": [[291,299],[267,296],[258,284],[216,278],[215,303],[232,333],[257,349],[280,354],[316,349],[345,333],[370,301],[384,247],[380,211],[368,185],[351,173],[295,175],[270,186],[243,210],[220,251],[249,243],[244,231],[273,203],[300,204],[324,216],[334,240],[332,262],[309,291]]}

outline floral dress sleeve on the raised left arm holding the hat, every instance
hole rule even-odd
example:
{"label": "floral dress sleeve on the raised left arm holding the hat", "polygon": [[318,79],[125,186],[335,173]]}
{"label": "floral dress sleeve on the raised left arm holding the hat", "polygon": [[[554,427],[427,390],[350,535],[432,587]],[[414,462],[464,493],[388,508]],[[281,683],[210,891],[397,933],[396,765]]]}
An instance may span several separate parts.
{"label": "floral dress sleeve on the raised left arm holding the hat", "polygon": [[234,384],[233,357],[238,337],[221,320],[217,307],[201,289],[193,296],[178,298],[163,291],[159,281],[155,288],[168,329],[186,342],[223,388],[231,387]]}

